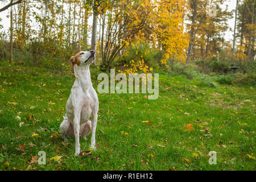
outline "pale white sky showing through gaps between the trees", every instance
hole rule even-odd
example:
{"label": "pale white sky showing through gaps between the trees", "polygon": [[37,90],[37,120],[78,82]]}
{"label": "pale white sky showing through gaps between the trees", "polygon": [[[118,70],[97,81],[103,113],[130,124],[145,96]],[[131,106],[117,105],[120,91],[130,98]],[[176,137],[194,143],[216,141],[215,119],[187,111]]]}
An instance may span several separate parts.
{"label": "pale white sky showing through gaps between the trees", "polygon": [[[3,5],[4,5],[3,3],[0,3],[0,7],[3,7]],[[5,3],[5,5],[6,5],[6,3]],[[236,0],[226,0],[224,5],[221,6],[222,9],[225,9],[226,5],[228,5],[228,11],[234,10],[234,9],[236,9]],[[10,8],[8,10],[2,11],[0,13],[0,18],[2,19],[2,22],[0,22],[0,24],[3,25],[2,30],[5,30],[5,31],[10,28],[10,18],[7,18],[7,15],[9,15],[9,13],[10,13]],[[229,24],[229,27],[232,28],[232,30],[233,30],[234,29],[234,18],[229,19],[228,24]],[[92,17],[89,17],[88,25],[92,26]],[[233,41],[233,32],[230,30],[226,31],[224,38],[227,42],[232,42]]]}

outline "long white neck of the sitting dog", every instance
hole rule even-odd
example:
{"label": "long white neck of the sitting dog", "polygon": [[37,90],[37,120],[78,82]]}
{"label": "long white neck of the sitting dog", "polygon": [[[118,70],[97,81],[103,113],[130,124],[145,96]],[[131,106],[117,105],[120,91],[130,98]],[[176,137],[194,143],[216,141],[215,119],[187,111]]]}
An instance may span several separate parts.
{"label": "long white neck of the sitting dog", "polygon": [[74,72],[76,81],[82,88],[84,92],[88,91],[92,86],[92,80],[90,80],[90,65],[89,64],[80,64],[79,66],[75,64]]}

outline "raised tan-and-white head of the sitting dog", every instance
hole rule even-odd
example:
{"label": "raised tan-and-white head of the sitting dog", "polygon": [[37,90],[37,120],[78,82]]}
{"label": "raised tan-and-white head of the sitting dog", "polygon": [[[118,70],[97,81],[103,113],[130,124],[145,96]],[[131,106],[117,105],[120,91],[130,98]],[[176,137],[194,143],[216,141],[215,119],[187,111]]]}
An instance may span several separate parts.
{"label": "raised tan-and-white head of the sitting dog", "polygon": [[80,51],[77,52],[75,56],[71,56],[69,59],[69,63],[71,65],[72,73],[74,72],[74,65],[78,66],[81,64],[94,64],[96,65],[96,52],[94,50],[91,51]]}

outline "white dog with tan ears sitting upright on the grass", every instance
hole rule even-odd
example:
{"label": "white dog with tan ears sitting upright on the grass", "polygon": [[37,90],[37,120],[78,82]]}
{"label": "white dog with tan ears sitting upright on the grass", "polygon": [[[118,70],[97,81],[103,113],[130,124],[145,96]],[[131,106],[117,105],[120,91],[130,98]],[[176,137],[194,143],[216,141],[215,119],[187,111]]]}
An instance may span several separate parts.
{"label": "white dog with tan ears sitting upright on the grass", "polygon": [[[96,150],[96,126],[98,118],[98,96],[90,79],[90,64],[96,63],[96,52],[80,51],[69,60],[76,80],[66,104],[66,113],[60,124],[60,134],[64,139],[75,137],[75,155],[80,154],[79,137],[86,139],[92,131],[90,148]],[[92,121],[89,121],[92,115]]]}

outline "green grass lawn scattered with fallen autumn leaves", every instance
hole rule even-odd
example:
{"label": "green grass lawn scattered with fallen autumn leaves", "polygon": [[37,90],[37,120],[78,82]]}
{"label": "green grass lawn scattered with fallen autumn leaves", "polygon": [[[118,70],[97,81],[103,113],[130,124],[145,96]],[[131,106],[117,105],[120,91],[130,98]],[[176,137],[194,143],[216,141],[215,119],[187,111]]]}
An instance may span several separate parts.
{"label": "green grass lawn scattered with fallen autumn leaves", "polygon": [[[100,72],[91,68],[91,73],[97,90]],[[2,170],[255,170],[254,87],[214,88],[202,75],[188,80],[160,73],[157,100],[98,94],[98,149],[74,156],[75,140],[64,146],[59,136],[74,81],[69,69],[1,64],[0,74]],[[193,130],[186,131],[189,123]],[[20,144],[26,148],[19,150]],[[89,150],[90,135],[80,144]],[[30,164],[39,151],[46,152],[46,165]],[[216,165],[208,163],[209,151],[217,152]],[[55,162],[53,156],[62,157]]]}

